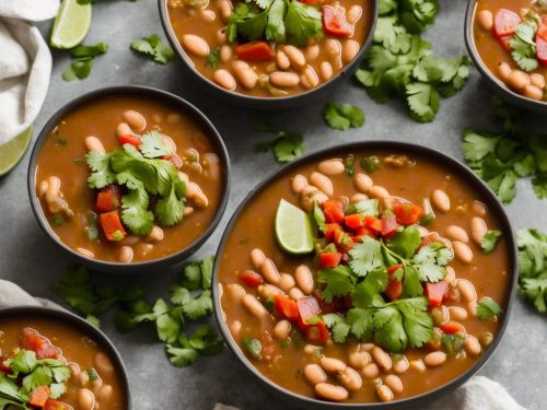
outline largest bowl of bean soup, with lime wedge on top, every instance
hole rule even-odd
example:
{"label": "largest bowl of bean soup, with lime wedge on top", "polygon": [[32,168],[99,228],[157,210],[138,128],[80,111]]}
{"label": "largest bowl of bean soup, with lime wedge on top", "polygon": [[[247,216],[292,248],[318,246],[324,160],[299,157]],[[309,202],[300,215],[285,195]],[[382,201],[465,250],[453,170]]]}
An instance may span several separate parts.
{"label": "largest bowl of bean soup, with lime wedge on top", "polygon": [[361,142],[253,189],[220,243],[213,301],[238,361],[296,406],[417,408],[497,349],[515,260],[502,206],[467,167]]}

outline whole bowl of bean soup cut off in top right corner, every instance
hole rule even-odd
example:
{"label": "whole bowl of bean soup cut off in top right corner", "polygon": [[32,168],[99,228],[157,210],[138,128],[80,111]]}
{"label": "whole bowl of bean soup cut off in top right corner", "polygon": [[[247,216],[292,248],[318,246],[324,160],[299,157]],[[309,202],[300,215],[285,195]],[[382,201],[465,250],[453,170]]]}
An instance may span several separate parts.
{"label": "whole bowl of bean soup cut off in top right corner", "polygon": [[465,43],[500,96],[547,113],[547,1],[469,0]]}

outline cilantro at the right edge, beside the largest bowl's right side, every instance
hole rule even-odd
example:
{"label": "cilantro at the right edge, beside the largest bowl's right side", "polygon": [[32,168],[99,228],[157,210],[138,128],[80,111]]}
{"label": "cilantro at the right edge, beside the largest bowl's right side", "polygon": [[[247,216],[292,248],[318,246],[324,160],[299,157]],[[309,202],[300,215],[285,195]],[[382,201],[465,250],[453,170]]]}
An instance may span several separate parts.
{"label": "cilantro at the right edge, beside the largest bowl's right side", "polygon": [[538,230],[516,233],[519,291],[539,313],[547,312],[547,235]]}

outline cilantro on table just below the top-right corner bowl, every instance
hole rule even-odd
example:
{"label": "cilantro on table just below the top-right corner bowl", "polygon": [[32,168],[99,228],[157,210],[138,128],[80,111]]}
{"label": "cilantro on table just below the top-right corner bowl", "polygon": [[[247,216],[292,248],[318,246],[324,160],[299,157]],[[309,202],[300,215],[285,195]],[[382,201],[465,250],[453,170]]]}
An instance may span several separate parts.
{"label": "cilantro on table just below the top-right corner bowl", "polygon": [[499,131],[465,130],[462,150],[469,167],[492,189],[503,203],[516,195],[516,181],[532,177],[537,198],[547,198],[547,139],[525,131],[523,113],[492,98],[493,117]]}

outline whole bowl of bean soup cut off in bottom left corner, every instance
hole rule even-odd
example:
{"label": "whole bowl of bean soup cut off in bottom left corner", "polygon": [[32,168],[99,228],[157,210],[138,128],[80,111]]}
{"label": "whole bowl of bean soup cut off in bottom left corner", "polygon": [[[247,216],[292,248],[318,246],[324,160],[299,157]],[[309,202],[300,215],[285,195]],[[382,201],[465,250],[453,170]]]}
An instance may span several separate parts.
{"label": "whole bowl of bean soup cut off in bottom left corner", "polygon": [[127,372],[106,336],[65,311],[0,309],[3,405],[44,410],[129,410]]}

